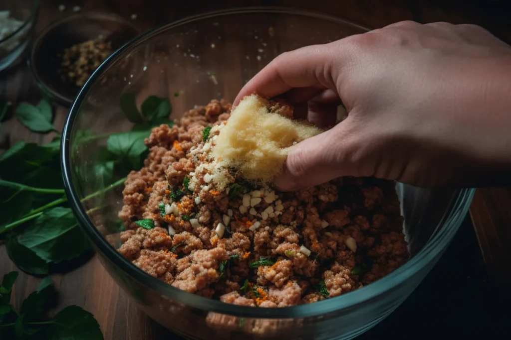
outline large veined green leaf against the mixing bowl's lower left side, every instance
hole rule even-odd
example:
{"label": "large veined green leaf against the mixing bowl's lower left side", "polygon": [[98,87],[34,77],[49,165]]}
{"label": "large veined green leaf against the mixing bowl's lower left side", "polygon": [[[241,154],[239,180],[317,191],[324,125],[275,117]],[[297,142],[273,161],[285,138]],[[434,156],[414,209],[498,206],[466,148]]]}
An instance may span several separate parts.
{"label": "large veined green leaf against the mixing bowl's lower left side", "polygon": [[[71,208],[55,207],[44,211],[27,227],[19,243],[34,251],[48,263],[73,259],[90,249]],[[73,244],[73,247],[69,247]]]}

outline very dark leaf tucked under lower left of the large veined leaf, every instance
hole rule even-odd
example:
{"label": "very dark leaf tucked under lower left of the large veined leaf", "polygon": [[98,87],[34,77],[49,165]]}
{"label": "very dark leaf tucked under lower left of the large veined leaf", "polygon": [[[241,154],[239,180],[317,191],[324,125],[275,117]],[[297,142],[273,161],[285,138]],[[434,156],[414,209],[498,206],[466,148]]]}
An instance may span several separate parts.
{"label": "very dark leaf tucked under lower left of the large veined leaf", "polygon": [[37,256],[31,249],[20,244],[16,236],[9,236],[6,248],[7,255],[22,271],[35,275],[48,274],[48,264],[46,261]]}

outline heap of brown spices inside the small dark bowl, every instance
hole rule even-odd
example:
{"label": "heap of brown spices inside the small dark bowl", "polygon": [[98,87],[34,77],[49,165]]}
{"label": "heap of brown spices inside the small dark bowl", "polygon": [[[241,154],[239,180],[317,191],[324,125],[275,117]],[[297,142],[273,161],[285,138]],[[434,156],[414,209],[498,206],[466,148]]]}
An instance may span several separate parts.
{"label": "heap of brown spices inside the small dark bowl", "polygon": [[92,72],[111,54],[111,43],[104,38],[87,40],[66,48],[60,63],[60,77],[65,83],[83,86]]}

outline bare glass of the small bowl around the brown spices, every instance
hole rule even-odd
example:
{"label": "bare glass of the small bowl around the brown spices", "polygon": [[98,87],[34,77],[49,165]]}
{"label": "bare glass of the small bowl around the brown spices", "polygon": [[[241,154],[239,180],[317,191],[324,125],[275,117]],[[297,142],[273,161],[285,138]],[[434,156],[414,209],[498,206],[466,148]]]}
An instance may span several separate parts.
{"label": "bare glass of the small bowl around the brown spices", "polygon": [[84,12],[66,16],[37,36],[28,60],[29,67],[41,90],[53,101],[68,107],[80,87],[61,80],[58,55],[67,47],[99,37],[111,42],[115,51],[140,32],[129,21],[113,14]]}

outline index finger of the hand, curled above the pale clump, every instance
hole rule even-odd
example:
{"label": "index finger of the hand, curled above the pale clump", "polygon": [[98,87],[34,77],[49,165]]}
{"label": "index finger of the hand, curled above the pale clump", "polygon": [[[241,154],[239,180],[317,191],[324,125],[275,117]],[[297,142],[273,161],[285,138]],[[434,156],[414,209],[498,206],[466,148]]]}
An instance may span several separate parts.
{"label": "index finger of the hand, curled above the pale clump", "polygon": [[252,93],[271,98],[293,88],[319,91],[335,88],[329,71],[336,57],[333,53],[326,44],[306,46],[278,56],[242,88],[233,104],[236,106],[241,98]]}

